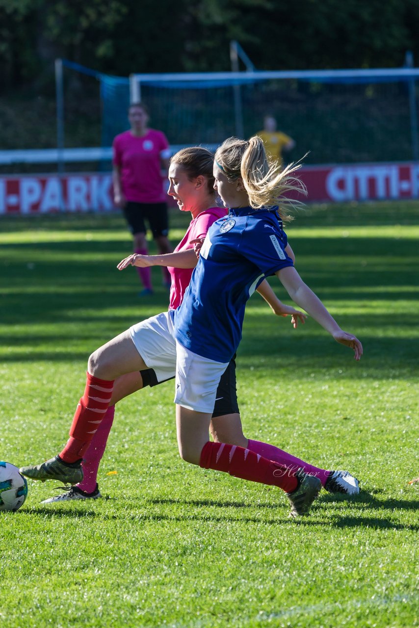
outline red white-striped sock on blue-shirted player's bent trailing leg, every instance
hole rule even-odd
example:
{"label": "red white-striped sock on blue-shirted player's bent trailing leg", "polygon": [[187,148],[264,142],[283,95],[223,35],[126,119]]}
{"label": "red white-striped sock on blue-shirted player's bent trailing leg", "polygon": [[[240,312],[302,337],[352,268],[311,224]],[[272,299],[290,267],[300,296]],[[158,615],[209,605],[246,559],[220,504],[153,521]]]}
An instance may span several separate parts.
{"label": "red white-striped sock on blue-shirted player's bent trailing leg", "polygon": [[295,470],[237,445],[208,441],[202,448],[199,466],[224,471],[242,480],[278,486],[287,493],[298,485]]}

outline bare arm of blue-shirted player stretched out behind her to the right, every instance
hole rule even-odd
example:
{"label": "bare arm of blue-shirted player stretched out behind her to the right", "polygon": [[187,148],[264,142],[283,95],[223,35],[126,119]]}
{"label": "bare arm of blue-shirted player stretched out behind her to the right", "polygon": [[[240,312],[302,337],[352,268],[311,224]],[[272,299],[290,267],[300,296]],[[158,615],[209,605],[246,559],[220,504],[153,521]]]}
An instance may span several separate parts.
{"label": "bare arm of blue-shirted player stretched out behind her to the right", "polygon": [[342,345],[354,351],[354,357],[359,360],[362,355],[362,344],[351,333],[344,332],[335,319],[329,314],[318,296],[303,282],[293,266],[287,266],[275,273],[283,284],[291,299],[314,318],[327,332]]}

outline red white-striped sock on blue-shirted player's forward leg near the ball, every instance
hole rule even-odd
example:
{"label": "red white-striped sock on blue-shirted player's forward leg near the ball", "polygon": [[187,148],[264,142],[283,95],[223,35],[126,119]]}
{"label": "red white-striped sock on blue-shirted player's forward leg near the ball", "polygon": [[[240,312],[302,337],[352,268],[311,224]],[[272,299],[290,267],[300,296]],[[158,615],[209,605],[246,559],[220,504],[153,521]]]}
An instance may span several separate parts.
{"label": "red white-striped sock on blue-shirted player's forward leg near the ball", "polygon": [[70,438],[59,454],[64,462],[76,462],[89,448],[112,398],[114,380],[99,379],[87,373],[84,395],[74,414]]}

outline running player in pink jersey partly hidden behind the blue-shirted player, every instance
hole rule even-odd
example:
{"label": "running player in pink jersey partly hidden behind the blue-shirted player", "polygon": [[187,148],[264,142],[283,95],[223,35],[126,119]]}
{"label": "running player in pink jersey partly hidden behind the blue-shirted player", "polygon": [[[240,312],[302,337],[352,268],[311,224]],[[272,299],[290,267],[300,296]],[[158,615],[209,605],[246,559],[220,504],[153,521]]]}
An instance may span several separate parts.
{"label": "running player in pink jersey partly hidden behind the blue-shirted player", "polygon": [[[133,255],[119,264],[119,268],[126,268],[129,264],[161,266],[163,264],[176,263],[176,267],[169,267],[172,276],[170,308],[173,309],[180,305],[185,290],[190,283],[192,269],[197,264],[191,241],[204,237],[210,225],[218,218],[226,215],[225,208],[214,207],[214,190],[212,188],[214,183],[214,178],[212,177],[213,160],[212,154],[204,148],[184,149],[173,156],[171,160],[168,193],[177,200],[181,211],[190,211],[192,214],[192,221],[188,230],[176,247],[175,252],[163,256]],[[290,247],[288,247],[288,252],[292,255]],[[259,286],[259,292],[268,301],[277,315],[291,315],[294,327],[297,327],[298,320],[304,322],[305,315],[290,306],[283,305],[276,298],[275,293],[273,293],[267,282],[263,282]],[[82,464],[84,479],[67,493],[46,499],[44,503],[101,497],[97,485],[97,470],[106,447],[109,431],[111,430],[114,418],[114,404],[144,386],[155,386],[161,381],[165,380],[158,381],[153,369],[132,372],[116,379],[110,401],[111,405],[107,409],[106,414],[104,414],[104,418],[97,431],[95,431],[87,452],[84,454],[84,462]],[[104,392],[106,393],[106,391]],[[313,467],[300,460],[300,458],[295,458],[273,445],[248,440],[243,435],[237,404],[236,363],[234,359],[231,360],[226,372],[220,379],[210,431],[216,442],[231,443],[232,445],[248,448],[258,455],[263,455],[274,462],[283,463],[286,467],[293,470],[303,467],[306,472],[317,475],[322,485],[330,492],[344,492],[347,494],[355,492],[354,486],[348,480],[340,479],[339,482],[336,482],[333,479],[332,481],[333,472]]]}

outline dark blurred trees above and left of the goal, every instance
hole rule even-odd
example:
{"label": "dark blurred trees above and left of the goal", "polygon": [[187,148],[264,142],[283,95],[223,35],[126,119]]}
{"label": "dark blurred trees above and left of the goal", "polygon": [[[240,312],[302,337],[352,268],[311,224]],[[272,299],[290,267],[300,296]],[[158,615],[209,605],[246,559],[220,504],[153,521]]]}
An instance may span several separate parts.
{"label": "dark blurred trees above and left of the goal", "polygon": [[[124,77],[228,71],[234,39],[258,70],[400,67],[418,31],[419,0],[0,0],[0,148],[54,145],[57,57]],[[66,85],[74,146],[100,133],[99,85],[81,81]]]}

